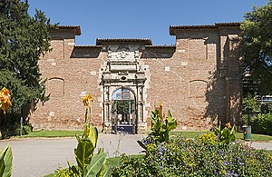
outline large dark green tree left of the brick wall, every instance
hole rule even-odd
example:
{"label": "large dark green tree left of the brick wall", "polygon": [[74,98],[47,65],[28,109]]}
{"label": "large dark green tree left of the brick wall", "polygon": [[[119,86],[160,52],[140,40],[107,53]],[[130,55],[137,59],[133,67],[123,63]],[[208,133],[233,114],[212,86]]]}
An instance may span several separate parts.
{"label": "large dark green tree left of the brick wall", "polygon": [[48,99],[38,60],[50,51],[53,25],[39,10],[30,16],[28,7],[27,0],[0,0],[0,88],[11,92],[12,107],[7,114],[12,117],[21,116],[27,103]]}

